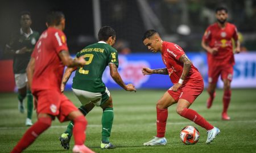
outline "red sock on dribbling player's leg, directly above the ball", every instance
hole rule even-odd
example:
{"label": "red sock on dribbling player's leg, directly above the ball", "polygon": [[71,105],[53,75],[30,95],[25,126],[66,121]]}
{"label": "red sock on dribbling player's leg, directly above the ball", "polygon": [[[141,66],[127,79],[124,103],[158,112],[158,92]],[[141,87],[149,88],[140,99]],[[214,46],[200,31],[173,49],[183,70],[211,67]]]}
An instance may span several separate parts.
{"label": "red sock on dribbling player's leg, directly above the ball", "polygon": [[188,118],[188,120],[191,120],[195,122],[195,124],[201,126],[202,128],[205,128],[207,130],[212,130],[213,126],[207,122],[207,120],[204,119],[204,117],[200,116],[196,111],[193,109],[184,108],[181,112],[180,116],[183,116],[185,118]]}

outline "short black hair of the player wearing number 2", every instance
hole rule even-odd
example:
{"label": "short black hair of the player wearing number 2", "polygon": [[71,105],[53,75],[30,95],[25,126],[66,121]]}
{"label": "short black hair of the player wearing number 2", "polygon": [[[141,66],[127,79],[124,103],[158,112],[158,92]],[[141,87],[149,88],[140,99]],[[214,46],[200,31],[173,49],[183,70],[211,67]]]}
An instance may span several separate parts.
{"label": "short black hair of the player wearing number 2", "polygon": [[115,31],[112,27],[104,26],[101,27],[100,31],[98,31],[98,40],[107,41],[109,37],[115,37]]}

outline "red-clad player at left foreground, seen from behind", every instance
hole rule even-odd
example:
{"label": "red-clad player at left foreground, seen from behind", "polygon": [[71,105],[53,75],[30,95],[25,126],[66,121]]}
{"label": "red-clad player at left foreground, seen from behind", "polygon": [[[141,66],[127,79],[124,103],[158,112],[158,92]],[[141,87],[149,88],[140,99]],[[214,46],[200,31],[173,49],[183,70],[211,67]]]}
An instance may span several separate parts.
{"label": "red-clad player at left foreground, seen from behind", "polygon": [[38,121],[26,131],[11,152],[22,152],[51,126],[57,117],[60,122],[72,120],[75,123],[73,152],[93,152],[84,145],[87,121],[75,105],[60,91],[64,66],[85,65],[84,58],[69,56],[63,30],[65,17],[62,12],[51,11],[47,16],[47,30],[36,43],[27,67],[28,84],[34,95]]}

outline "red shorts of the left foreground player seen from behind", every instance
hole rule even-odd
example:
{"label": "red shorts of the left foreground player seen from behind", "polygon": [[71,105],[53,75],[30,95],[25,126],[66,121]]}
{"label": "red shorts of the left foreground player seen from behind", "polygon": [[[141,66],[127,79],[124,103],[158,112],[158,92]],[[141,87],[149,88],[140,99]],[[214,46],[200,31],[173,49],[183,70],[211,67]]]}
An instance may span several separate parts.
{"label": "red shorts of the left foreground player seen from behind", "polygon": [[36,112],[56,116],[60,122],[67,121],[67,117],[72,111],[78,111],[72,101],[61,92],[43,90],[34,92],[34,96],[38,99]]}

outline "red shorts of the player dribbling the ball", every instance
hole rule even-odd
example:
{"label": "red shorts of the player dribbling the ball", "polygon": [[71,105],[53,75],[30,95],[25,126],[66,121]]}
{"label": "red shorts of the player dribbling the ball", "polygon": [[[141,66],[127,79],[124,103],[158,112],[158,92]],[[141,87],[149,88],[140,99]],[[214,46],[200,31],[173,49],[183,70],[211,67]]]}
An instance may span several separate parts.
{"label": "red shorts of the player dribbling the ball", "polygon": [[189,80],[183,84],[176,92],[170,88],[168,93],[174,98],[175,101],[179,99],[185,99],[189,103],[193,103],[197,96],[199,96],[204,90],[204,81],[200,80]]}

